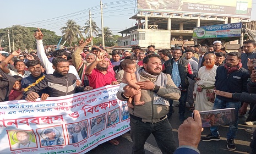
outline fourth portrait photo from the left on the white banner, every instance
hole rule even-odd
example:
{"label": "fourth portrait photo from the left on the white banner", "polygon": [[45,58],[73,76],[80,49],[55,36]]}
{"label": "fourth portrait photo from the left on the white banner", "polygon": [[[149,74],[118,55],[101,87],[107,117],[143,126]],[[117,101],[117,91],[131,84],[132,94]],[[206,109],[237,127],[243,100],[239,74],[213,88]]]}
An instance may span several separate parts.
{"label": "fourth portrait photo from the left on the white banner", "polygon": [[100,116],[90,118],[91,130],[90,136],[98,133],[101,130],[105,129],[105,122],[106,122],[106,113],[101,114]]}

